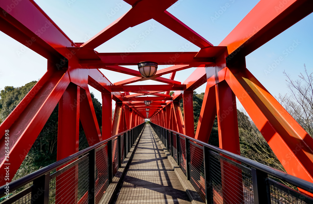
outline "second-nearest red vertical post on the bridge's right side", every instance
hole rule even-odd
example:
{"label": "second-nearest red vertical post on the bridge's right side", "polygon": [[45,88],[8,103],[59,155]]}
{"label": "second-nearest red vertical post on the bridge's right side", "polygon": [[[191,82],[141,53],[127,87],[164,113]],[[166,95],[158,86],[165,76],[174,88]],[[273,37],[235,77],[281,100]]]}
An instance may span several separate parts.
{"label": "second-nearest red vertical post on the bridge's right side", "polygon": [[189,137],[195,137],[192,97],[193,91],[184,91],[182,96],[184,104],[185,134]]}

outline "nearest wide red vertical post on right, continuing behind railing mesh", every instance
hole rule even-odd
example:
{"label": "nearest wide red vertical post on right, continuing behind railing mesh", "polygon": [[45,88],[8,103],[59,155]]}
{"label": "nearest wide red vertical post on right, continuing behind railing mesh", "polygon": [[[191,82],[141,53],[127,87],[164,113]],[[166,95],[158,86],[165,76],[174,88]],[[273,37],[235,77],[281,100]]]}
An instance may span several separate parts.
{"label": "nearest wide red vertical post on right, continuing behind railing mesh", "polygon": [[[226,81],[215,85],[219,147],[240,155],[236,97]],[[244,202],[241,169],[221,160],[224,203]]]}

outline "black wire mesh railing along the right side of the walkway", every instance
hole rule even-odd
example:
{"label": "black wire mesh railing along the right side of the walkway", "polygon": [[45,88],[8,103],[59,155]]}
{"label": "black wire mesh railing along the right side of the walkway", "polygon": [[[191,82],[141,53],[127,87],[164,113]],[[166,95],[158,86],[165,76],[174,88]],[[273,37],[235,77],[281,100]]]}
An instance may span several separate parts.
{"label": "black wire mesh railing along the right side of the walkway", "polygon": [[150,124],[161,141],[167,134],[165,146],[206,203],[313,203],[313,183]]}

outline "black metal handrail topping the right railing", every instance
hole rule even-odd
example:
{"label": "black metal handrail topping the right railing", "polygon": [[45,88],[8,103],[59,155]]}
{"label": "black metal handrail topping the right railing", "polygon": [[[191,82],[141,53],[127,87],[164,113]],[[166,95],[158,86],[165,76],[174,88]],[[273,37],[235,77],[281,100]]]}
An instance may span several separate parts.
{"label": "black metal handrail topping the right railing", "polygon": [[[152,123],[152,122],[150,122],[150,123]],[[154,124],[154,123],[152,123],[152,124]],[[154,124],[154,125],[156,125],[156,124]],[[156,125],[156,126],[159,126],[159,125]],[[159,126],[159,127],[162,127],[162,126]],[[282,172],[280,170],[274,169],[272,167],[266,166],[266,165],[261,164],[259,162],[255,162],[255,161],[250,160],[248,158],[242,157],[242,156],[240,156],[238,154],[234,154],[232,152],[228,152],[226,150],[220,149],[220,148],[215,147],[213,145],[210,145],[208,143],[205,143],[205,142],[202,142],[202,141],[197,140],[195,138],[192,138],[192,137],[189,137],[187,135],[184,135],[182,133],[179,133],[179,132],[167,129],[165,127],[162,127],[162,128],[164,128],[165,130],[168,130],[170,132],[173,132],[173,133],[175,133],[177,135],[180,135],[182,137],[185,137],[185,138],[189,139],[190,141],[196,142],[197,144],[201,144],[204,147],[208,147],[211,150],[214,150],[214,151],[217,151],[219,153],[222,153],[223,155],[231,157],[231,158],[233,158],[233,159],[235,159],[235,160],[237,160],[239,162],[243,162],[243,163],[249,165],[250,167],[258,169],[258,170],[260,170],[262,172],[265,172],[265,173],[267,173],[269,175],[275,176],[275,177],[281,179],[282,181],[285,181],[285,182],[288,182],[288,183],[290,183],[290,184],[292,184],[294,186],[300,187],[301,189],[303,189],[303,190],[305,190],[307,192],[313,193],[313,183],[311,183],[311,182],[305,181],[305,180],[303,180],[301,178],[295,177],[295,176],[290,175],[288,173],[285,173],[285,172]]]}

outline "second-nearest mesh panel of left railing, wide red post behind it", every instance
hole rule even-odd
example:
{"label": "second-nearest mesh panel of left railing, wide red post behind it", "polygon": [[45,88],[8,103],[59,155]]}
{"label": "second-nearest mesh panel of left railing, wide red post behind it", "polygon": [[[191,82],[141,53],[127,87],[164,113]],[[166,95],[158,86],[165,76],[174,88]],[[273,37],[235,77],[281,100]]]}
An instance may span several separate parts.
{"label": "second-nearest mesh panel of left railing, wide red post behind it", "polygon": [[[56,203],[85,203],[89,189],[88,157],[56,176]],[[51,192],[53,193],[53,192]]]}

